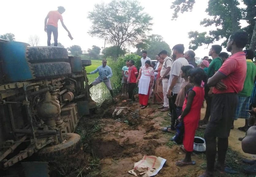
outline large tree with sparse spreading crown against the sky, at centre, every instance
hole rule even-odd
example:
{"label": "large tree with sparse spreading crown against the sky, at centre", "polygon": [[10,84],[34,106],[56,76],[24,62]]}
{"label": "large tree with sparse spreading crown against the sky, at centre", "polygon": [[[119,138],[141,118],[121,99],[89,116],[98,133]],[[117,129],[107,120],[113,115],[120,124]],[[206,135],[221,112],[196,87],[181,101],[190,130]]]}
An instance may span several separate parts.
{"label": "large tree with sparse spreading crown against the sky, at centre", "polygon": [[107,39],[118,49],[124,44],[140,42],[151,31],[152,25],[152,18],[143,9],[135,0],[112,0],[109,4],[96,4],[88,15],[93,23],[88,33]]}

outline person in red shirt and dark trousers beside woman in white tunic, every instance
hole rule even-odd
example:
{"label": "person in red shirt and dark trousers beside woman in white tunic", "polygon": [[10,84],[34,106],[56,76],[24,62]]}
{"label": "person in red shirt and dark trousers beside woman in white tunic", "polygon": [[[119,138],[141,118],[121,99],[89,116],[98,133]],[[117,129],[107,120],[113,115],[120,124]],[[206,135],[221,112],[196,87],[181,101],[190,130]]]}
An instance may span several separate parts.
{"label": "person in red shirt and dark trousers beside woman in white tunic", "polygon": [[129,66],[130,67],[128,69],[128,79],[127,79],[127,82],[128,82],[128,85],[129,85],[129,88],[128,88],[129,99],[128,100],[135,101],[133,90],[137,86],[136,80],[137,80],[137,77],[138,77],[138,70],[137,70],[136,66],[134,66],[134,61],[133,60],[129,61]]}

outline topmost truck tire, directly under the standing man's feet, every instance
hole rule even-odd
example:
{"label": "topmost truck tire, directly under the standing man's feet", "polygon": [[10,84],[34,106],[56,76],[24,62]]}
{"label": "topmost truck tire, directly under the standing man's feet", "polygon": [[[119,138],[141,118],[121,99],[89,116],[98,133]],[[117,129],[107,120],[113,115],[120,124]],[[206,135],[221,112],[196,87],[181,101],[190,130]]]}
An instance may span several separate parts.
{"label": "topmost truck tire, directly under the standing man's feet", "polygon": [[67,49],[56,46],[28,47],[27,58],[30,63],[48,61],[67,61]]}

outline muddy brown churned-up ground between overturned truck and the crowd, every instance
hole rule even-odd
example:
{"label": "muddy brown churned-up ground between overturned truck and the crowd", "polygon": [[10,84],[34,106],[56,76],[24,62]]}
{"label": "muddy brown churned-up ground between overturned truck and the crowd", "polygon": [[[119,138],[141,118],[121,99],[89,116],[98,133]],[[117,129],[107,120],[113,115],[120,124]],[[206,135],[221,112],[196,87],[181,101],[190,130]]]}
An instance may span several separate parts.
{"label": "muddy brown churned-up ground between overturned truck and the crowd", "polygon": [[[159,112],[159,105],[153,104],[141,110],[138,102],[127,103],[123,102],[124,99],[127,98],[117,97],[117,100],[105,101],[95,111],[96,114],[82,118],[77,133],[82,137],[85,160],[71,176],[132,177],[128,171],[144,155],[155,155],[167,160],[156,176],[189,177],[201,175],[205,171],[205,154],[192,156],[196,165],[175,165],[175,161],[184,158],[185,154],[178,145],[169,141],[175,132],[161,131],[162,127],[170,124],[168,112]],[[116,107],[128,107],[130,110],[119,117],[113,117]],[[204,112],[205,109],[202,108],[201,118],[204,117]],[[243,156],[251,156],[242,152],[238,141],[238,137],[244,135],[237,130],[242,125],[243,120],[236,122],[235,129],[231,131],[231,149],[227,153],[227,164],[239,171],[239,174],[220,175],[216,172],[216,176],[249,176],[242,172],[246,167],[241,162]],[[203,133],[204,130],[198,130],[196,135],[203,137]]]}

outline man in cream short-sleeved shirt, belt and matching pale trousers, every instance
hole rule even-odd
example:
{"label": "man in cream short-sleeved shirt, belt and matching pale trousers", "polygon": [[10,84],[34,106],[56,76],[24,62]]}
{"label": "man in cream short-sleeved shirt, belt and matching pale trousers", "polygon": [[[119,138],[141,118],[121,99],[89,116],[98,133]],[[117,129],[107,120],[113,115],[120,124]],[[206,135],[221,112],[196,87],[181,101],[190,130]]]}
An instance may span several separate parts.
{"label": "man in cream short-sleeved shirt, belt and matching pale trousers", "polygon": [[166,50],[162,50],[160,53],[160,58],[164,60],[162,69],[160,71],[160,78],[159,81],[162,81],[163,85],[163,105],[158,107],[162,109],[161,112],[166,112],[169,110],[169,100],[167,98],[167,91],[168,91],[168,81],[170,78],[170,70],[172,67],[173,60],[168,56],[168,52]]}

